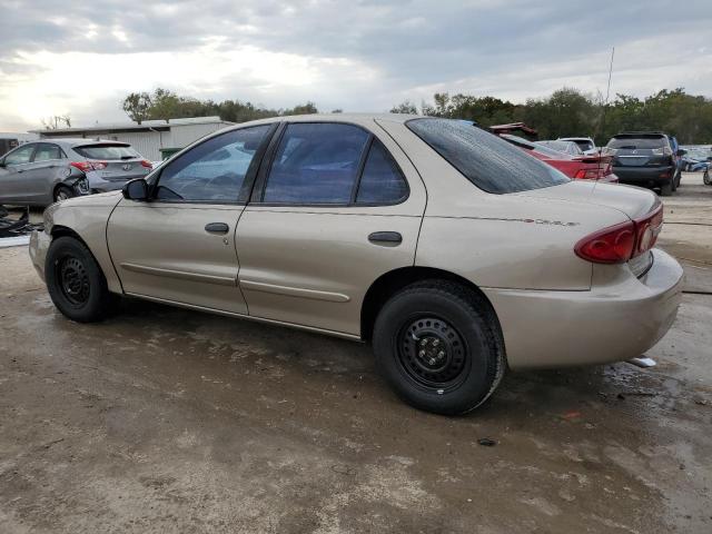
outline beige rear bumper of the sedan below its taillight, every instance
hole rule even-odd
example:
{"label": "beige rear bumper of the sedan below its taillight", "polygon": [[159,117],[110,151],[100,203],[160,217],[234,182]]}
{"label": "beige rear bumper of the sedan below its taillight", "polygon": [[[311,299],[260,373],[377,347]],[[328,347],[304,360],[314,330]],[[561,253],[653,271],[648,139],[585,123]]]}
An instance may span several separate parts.
{"label": "beige rear bumper of the sedan below its taillight", "polygon": [[682,298],[680,264],[653,249],[641,278],[589,291],[484,288],[502,325],[510,367],[566,367],[640,356],[670,329]]}

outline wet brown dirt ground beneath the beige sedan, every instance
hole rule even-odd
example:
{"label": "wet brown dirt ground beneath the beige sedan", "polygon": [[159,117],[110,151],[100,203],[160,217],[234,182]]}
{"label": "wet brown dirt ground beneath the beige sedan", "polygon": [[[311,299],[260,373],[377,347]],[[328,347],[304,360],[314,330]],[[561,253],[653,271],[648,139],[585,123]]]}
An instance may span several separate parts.
{"label": "wet brown dirt ground beneath the beige sedan", "polygon": [[458,418],[349,342],[139,301],[72,324],[0,249],[0,532],[710,533],[712,187],[665,217],[691,293],[657,367],[510,374]]}

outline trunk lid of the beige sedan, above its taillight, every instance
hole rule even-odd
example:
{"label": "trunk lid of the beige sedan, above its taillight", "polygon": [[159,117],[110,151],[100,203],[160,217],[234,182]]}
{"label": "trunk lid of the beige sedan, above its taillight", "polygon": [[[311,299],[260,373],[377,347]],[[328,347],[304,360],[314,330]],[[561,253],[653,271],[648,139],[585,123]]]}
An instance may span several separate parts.
{"label": "trunk lid of the beige sedan, above its taillight", "polygon": [[514,194],[520,197],[563,200],[616,209],[631,219],[647,215],[659,204],[657,196],[640,187],[575,180],[561,186]]}

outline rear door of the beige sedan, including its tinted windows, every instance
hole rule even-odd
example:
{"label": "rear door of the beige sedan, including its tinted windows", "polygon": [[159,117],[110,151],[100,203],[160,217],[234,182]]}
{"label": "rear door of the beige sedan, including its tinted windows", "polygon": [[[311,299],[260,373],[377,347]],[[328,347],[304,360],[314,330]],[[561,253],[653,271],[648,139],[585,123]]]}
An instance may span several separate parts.
{"label": "rear door of the beige sedan, including its tinted windows", "polygon": [[358,336],[369,286],[414,263],[425,188],[373,121],[283,129],[237,228],[250,316]]}

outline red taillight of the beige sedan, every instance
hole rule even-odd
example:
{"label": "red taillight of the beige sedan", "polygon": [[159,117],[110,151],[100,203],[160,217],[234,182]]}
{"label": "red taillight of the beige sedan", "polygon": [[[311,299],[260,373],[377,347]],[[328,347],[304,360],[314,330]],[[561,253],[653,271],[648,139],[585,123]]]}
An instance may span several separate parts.
{"label": "red taillight of the beige sedan", "polygon": [[624,264],[655,246],[663,226],[663,208],[647,216],[604,228],[581,239],[576,256],[595,264]]}

